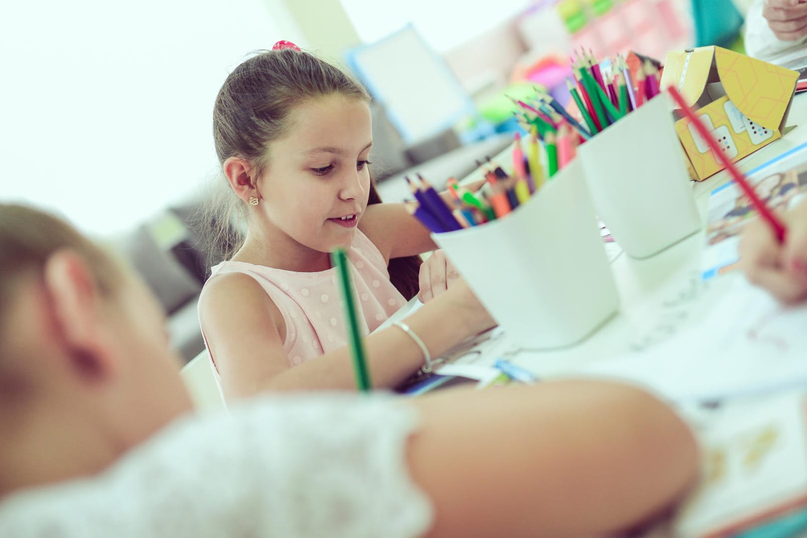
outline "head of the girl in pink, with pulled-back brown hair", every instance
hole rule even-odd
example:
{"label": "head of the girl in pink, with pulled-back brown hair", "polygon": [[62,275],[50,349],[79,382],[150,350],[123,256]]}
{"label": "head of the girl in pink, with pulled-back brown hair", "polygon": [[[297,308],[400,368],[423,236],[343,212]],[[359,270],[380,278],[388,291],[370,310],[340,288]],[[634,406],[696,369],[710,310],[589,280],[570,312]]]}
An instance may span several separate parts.
{"label": "head of the girl in pink, with pulled-back brown hair", "polygon": [[353,77],[292,48],[236,67],[213,135],[250,231],[319,252],[349,244],[370,191],[369,101]]}

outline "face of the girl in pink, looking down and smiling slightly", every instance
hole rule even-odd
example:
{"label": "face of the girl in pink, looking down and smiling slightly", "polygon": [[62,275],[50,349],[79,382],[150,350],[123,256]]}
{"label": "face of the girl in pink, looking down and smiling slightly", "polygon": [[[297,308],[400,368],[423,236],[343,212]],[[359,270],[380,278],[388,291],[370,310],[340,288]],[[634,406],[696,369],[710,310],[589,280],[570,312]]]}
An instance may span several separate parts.
{"label": "face of the girl in pink, looking down and smiling slightly", "polygon": [[271,239],[319,252],[352,243],[370,193],[372,144],[363,100],[333,94],[298,106],[257,184]]}

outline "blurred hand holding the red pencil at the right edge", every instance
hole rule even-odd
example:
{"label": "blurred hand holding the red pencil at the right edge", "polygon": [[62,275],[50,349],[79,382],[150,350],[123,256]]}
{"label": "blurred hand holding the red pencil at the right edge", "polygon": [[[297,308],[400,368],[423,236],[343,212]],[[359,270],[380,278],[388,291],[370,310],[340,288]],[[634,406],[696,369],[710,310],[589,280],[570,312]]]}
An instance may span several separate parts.
{"label": "blurred hand holding the red pencil at the right edge", "polygon": [[807,201],[780,216],[787,227],[782,244],[763,219],[743,227],[740,265],[750,282],[797,302],[807,298]]}

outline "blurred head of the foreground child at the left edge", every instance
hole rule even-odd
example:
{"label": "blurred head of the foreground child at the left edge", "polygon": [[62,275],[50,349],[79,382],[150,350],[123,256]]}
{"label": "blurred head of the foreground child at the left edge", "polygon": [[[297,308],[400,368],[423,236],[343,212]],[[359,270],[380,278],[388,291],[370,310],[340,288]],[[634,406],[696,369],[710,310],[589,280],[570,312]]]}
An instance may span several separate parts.
{"label": "blurred head of the foreground child at the left edge", "polygon": [[0,494],[92,470],[69,469],[70,442],[85,466],[106,465],[190,409],[164,321],[142,282],[72,227],[0,204],[0,452],[25,459],[19,444],[36,438],[31,453],[48,460],[41,476],[9,478],[26,462],[4,458]]}

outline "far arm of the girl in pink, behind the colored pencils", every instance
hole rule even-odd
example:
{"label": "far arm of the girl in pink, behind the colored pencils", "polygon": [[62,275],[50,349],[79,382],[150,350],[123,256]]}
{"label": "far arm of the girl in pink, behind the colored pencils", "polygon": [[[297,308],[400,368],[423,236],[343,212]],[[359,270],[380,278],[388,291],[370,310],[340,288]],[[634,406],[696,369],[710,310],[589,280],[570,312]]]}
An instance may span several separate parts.
{"label": "far arm of the girl in pink, behind the colored pencils", "polygon": [[[464,187],[475,192],[484,182],[473,181]],[[441,192],[440,196],[446,202],[451,200],[448,191]],[[367,206],[358,227],[375,244],[387,263],[391,258],[414,256],[437,248],[429,236],[429,230],[407,213],[403,203],[376,203]]]}

